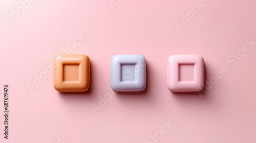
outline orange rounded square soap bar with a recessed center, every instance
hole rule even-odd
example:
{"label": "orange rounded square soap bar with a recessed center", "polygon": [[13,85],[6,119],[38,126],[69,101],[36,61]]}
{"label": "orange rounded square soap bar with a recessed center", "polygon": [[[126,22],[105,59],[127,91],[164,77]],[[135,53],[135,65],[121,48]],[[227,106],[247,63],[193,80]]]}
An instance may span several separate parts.
{"label": "orange rounded square soap bar with a recessed center", "polygon": [[57,55],[54,88],[59,92],[83,92],[90,85],[90,59],[84,54]]}

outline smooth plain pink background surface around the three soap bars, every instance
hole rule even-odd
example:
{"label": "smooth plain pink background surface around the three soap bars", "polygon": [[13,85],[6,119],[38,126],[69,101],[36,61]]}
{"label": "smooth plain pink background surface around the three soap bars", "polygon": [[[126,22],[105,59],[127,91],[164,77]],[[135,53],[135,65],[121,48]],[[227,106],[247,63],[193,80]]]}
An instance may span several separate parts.
{"label": "smooth plain pink background surface around the three soap bars", "polygon": [[[8,26],[4,17],[22,5],[0,1],[0,86],[4,90],[8,83],[10,96],[8,140],[4,91],[0,96],[0,142],[144,142],[168,120],[174,126],[158,142],[256,142],[256,44],[239,60],[227,61],[245,39],[256,41],[256,1],[205,0],[180,32],[174,22],[181,22],[198,0],[118,2],[113,10],[109,0],[37,0]],[[27,83],[34,84],[34,75],[44,73],[76,34],[87,37],[71,53],[90,57],[89,91],[59,93],[49,72],[30,92]],[[147,87],[116,93],[96,114],[92,104],[112,93],[115,54],[146,57]],[[166,83],[172,54],[202,55],[208,81],[223,65],[229,70],[204,94],[172,93]]]}

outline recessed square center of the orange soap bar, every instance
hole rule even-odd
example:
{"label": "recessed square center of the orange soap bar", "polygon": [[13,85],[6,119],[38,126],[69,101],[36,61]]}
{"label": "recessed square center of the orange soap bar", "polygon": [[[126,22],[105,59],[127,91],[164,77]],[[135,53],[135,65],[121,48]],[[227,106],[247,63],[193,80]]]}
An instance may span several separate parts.
{"label": "recessed square center of the orange soap bar", "polygon": [[63,64],[63,81],[79,81],[79,64]]}

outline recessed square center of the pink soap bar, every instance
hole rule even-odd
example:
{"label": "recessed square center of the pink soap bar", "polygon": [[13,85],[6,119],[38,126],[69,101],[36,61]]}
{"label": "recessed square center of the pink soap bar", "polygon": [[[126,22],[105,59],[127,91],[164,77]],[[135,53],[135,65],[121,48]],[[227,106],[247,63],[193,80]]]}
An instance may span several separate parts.
{"label": "recessed square center of the pink soap bar", "polygon": [[195,64],[179,64],[179,81],[195,81]]}

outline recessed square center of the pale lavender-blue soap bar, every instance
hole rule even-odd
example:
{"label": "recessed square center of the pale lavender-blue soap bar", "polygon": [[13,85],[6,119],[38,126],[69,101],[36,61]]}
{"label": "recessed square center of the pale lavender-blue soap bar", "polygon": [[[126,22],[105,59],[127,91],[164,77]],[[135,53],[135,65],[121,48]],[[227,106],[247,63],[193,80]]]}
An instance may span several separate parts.
{"label": "recessed square center of the pale lavender-blue soap bar", "polygon": [[121,81],[135,81],[135,64],[121,64]]}

